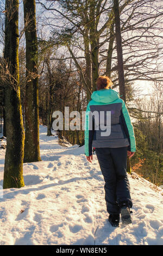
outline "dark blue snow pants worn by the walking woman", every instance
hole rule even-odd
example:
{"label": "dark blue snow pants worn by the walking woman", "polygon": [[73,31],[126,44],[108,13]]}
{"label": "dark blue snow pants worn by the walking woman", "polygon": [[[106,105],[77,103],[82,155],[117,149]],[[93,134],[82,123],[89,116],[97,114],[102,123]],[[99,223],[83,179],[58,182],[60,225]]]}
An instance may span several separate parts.
{"label": "dark blue snow pants worn by the walking woman", "polygon": [[104,176],[106,209],[120,214],[120,204],[127,201],[131,208],[130,185],[127,177],[127,147],[96,148],[96,155]]}

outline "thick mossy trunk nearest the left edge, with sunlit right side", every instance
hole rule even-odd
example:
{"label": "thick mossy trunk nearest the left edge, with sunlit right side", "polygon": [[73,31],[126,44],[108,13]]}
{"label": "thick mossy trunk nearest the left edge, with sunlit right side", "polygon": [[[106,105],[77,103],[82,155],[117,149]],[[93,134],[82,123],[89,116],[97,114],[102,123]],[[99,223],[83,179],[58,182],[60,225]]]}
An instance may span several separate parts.
{"label": "thick mossy trunk nearest the left edge, with sunlit right side", "polygon": [[5,84],[5,120],[7,149],[4,162],[3,188],[22,187],[24,129],[18,73],[18,0],[5,2],[4,59],[9,65],[10,85]]}

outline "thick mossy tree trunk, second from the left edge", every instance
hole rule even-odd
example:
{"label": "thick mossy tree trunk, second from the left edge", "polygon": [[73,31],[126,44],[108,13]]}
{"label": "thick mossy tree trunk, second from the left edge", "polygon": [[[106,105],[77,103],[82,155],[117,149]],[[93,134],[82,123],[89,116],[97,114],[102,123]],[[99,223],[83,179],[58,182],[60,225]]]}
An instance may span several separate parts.
{"label": "thick mossy tree trunk, second from the left edge", "polygon": [[24,162],[41,161],[39,145],[39,77],[37,75],[37,34],[35,0],[23,0],[26,35],[26,138]]}

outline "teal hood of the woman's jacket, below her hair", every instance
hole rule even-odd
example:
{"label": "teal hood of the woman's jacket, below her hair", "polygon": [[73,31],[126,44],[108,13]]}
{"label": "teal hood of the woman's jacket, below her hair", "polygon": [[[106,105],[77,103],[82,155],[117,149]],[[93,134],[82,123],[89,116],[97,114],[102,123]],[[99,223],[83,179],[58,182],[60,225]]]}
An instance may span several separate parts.
{"label": "teal hood of the woman's jacket, below her hair", "polygon": [[92,100],[101,103],[110,103],[112,101],[117,100],[119,97],[120,94],[118,94],[115,90],[112,89],[96,90],[91,95]]}

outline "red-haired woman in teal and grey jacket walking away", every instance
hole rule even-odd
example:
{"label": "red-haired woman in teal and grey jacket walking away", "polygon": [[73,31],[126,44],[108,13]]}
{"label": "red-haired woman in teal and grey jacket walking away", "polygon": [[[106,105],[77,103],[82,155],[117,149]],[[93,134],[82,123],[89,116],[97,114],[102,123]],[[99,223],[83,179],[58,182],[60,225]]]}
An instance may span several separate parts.
{"label": "red-haired woman in teal and grey jacket walking away", "polygon": [[92,162],[92,147],[104,176],[106,209],[109,222],[118,227],[131,223],[130,185],[127,177],[127,155],[136,151],[133,125],[125,102],[111,89],[107,76],[97,79],[97,91],[91,95],[85,115],[85,155]]}

